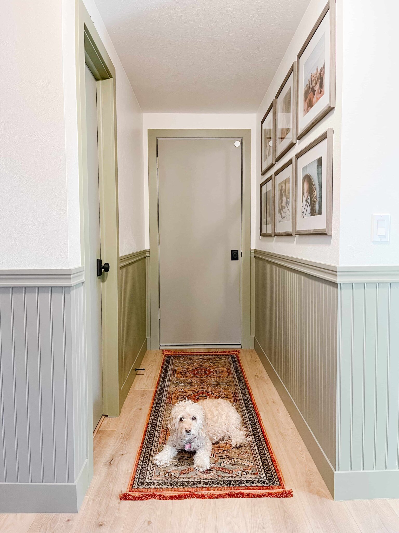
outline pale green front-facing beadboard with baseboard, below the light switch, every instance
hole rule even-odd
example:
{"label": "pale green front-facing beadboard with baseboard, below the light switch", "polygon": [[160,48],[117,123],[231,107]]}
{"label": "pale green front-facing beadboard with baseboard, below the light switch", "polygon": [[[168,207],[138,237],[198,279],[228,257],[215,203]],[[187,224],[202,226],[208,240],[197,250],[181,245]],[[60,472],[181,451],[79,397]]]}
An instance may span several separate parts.
{"label": "pale green front-facing beadboard with baseboard, below the light switch", "polygon": [[399,280],[338,285],[338,325],[336,492],[397,498]]}

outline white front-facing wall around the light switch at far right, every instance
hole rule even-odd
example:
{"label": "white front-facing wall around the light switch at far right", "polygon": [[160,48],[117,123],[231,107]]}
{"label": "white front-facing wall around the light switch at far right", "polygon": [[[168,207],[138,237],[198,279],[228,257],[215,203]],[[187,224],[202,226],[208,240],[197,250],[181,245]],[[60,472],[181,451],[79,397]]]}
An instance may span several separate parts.
{"label": "white front-facing wall around the light switch at far right", "polygon": [[[399,3],[345,0],[340,264],[399,264]],[[390,213],[390,243],[372,243]]]}

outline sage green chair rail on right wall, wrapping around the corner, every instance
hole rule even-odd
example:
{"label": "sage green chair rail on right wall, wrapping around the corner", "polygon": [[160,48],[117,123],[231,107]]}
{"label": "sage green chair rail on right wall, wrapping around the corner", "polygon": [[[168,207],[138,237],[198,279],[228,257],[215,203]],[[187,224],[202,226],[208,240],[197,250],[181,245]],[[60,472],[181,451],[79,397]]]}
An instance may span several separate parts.
{"label": "sage green chair rail on right wall, wrapping around the corner", "polygon": [[399,266],[396,265],[337,266],[258,249],[253,249],[251,252],[259,259],[334,283],[394,283],[399,281]]}

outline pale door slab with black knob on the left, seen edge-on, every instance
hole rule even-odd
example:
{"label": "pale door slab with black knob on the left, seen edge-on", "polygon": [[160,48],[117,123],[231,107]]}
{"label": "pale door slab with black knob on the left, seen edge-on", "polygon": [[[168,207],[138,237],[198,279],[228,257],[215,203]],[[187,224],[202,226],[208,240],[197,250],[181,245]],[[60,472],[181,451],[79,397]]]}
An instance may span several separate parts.
{"label": "pale door slab with black knob on the left, seen edge-on", "polygon": [[[86,69],[86,122],[87,122],[87,171],[89,192],[89,261],[92,272],[97,270],[101,258],[99,190],[98,190],[98,137],[96,79]],[[103,415],[103,352],[101,320],[101,277],[90,277],[92,308],[92,376],[93,376],[93,430]]]}

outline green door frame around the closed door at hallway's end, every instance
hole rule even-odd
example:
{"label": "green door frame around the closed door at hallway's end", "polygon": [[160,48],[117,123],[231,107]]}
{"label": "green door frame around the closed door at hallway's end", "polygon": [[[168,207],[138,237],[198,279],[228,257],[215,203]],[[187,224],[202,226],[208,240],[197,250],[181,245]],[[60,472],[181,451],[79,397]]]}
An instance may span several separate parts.
{"label": "green door frame around the closed door at hallway's end", "polygon": [[[159,247],[158,247],[158,139],[240,139],[242,160],[242,264],[241,342],[250,348],[251,330],[251,130],[148,130],[149,265],[151,298],[151,350],[160,348]],[[209,348],[209,346],[207,346]],[[220,348],[220,346],[218,346]]]}

